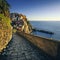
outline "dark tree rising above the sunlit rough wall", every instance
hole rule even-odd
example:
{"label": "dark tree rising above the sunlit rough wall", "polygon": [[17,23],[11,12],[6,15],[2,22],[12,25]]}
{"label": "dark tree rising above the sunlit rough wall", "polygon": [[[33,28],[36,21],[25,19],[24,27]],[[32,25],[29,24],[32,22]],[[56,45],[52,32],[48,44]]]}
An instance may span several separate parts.
{"label": "dark tree rising above the sunlit rough wall", "polygon": [[10,5],[6,0],[0,0],[0,13],[4,14],[4,16],[9,17],[9,8]]}

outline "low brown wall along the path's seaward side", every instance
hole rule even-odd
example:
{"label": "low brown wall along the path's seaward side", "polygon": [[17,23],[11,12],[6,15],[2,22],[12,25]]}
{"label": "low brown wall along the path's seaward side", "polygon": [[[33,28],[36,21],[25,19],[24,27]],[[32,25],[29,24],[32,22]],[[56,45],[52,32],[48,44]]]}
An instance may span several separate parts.
{"label": "low brown wall along the path's seaward side", "polygon": [[47,38],[43,38],[43,37],[26,34],[26,33],[19,32],[19,31],[17,33],[19,35],[27,38],[27,40],[29,40],[31,43],[33,43],[34,45],[36,45],[37,47],[39,47],[40,49],[45,51],[47,54],[49,54],[53,57],[57,57],[57,55],[59,53],[58,49],[60,46],[60,44],[59,44],[60,42],[57,42],[52,39],[47,39]]}

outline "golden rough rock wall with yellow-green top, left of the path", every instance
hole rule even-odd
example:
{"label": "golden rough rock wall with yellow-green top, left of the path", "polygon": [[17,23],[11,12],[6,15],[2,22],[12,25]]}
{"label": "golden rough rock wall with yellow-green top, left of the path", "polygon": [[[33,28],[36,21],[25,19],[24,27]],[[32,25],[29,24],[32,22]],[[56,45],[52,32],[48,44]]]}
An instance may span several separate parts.
{"label": "golden rough rock wall with yellow-green top, left of the path", "polygon": [[0,14],[0,52],[6,47],[12,38],[10,20]]}

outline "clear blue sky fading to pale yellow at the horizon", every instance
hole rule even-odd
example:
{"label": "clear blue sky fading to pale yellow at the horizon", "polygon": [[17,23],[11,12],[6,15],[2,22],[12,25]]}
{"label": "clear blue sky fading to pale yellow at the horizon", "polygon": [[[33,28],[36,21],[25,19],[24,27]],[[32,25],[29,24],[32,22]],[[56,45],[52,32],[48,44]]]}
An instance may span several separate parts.
{"label": "clear blue sky fading to pale yellow at the horizon", "polygon": [[22,13],[29,20],[60,21],[60,0],[7,0],[10,12]]}

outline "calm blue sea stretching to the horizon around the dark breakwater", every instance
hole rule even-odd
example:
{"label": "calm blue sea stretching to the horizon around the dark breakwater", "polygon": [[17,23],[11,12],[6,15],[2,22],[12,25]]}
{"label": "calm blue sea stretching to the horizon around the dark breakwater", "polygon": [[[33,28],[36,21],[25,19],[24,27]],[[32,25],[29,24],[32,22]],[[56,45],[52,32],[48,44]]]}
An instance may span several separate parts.
{"label": "calm blue sea stretching to the horizon around the dark breakwater", "polygon": [[30,21],[33,28],[50,31],[54,34],[33,32],[34,35],[60,41],[60,21]]}

